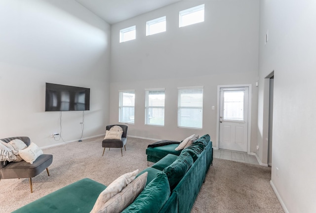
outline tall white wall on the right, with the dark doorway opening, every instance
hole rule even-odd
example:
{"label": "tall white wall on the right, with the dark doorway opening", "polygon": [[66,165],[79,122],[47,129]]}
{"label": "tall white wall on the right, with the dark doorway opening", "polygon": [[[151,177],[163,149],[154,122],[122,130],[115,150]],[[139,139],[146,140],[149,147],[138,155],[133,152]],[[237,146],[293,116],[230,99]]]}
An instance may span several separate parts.
{"label": "tall white wall on the right, with the dark doorway opening", "polygon": [[264,78],[274,71],[271,183],[289,213],[316,212],[315,11],[315,0],[260,1],[259,151],[267,148]]}

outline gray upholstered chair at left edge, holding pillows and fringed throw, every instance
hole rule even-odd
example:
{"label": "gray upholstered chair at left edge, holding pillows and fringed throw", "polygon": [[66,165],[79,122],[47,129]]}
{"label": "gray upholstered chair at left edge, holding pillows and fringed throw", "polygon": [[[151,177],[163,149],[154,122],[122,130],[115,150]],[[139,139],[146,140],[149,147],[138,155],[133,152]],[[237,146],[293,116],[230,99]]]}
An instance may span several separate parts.
{"label": "gray upholstered chair at left edge, holding pillows and fringed throw", "polygon": [[[8,137],[0,139],[6,143],[14,139],[22,140],[27,146],[30,145],[31,140],[29,137]],[[0,180],[10,179],[10,178],[30,178],[31,193],[33,193],[32,188],[32,177],[37,176],[43,170],[46,169],[49,176],[48,167],[53,162],[53,156],[49,154],[40,155],[33,164],[27,163],[24,160],[20,162],[0,162]]]}

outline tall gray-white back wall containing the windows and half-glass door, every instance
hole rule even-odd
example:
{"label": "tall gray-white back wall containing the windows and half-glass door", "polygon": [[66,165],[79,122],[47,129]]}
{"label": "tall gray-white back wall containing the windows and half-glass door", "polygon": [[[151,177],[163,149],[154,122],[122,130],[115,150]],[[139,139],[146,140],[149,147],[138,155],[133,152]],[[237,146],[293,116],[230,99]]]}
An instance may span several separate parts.
{"label": "tall gray-white back wall containing the windows and half-glass door", "polygon": [[[205,4],[205,21],[179,28],[179,11]],[[146,36],[146,21],[166,16],[166,32]],[[118,90],[135,89],[129,135],[182,140],[210,134],[216,146],[218,85],[252,85],[251,141],[257,144],[259,0],[181,1],[111,27],[110,123],[118,123]],[[136,40],[119,30],[136,25]],[[177,87],[204,86],[203,129],[177,128]],[[165,126],[145,126],[145,88],[165,88]],[[215,106],[215,110],[211,110]]]}

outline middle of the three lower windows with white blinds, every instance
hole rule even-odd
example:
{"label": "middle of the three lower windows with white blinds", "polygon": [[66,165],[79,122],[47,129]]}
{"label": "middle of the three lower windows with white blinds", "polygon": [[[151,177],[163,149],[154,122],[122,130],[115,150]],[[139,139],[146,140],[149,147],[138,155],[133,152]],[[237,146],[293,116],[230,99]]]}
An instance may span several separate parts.
{"label": "middle of the three lower windows with white blinds", "polygon": [[164,89],[146,89],[145,125],[164,126]]}

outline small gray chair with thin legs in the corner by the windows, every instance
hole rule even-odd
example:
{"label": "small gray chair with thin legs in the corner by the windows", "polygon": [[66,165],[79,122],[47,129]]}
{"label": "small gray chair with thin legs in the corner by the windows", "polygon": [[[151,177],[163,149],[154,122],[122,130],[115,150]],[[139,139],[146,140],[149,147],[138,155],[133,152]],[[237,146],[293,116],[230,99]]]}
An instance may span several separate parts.
{"label": "small gray chair with thin legs in the corner by the windows", "polygon": [[127,126],[126,125],[109,125],[106,127],[106,130],[110,130],[110,128],[112,128],[113,126],[119,126],[123,129],[123,134],[122,134],[122,139],[121,140],[113,140],[113,139],[103,139],[102,141],[102,147],[104,147],[103,149],[103,154],[102,156],[104,155],[104,151],[105,151],[105,148],[109,148],[109,150],[111,148],[120,148],[120,153],[123,157],[123,151],[122,151],[122,147],[124,146],[124,149],[126,151],[126,147],[125,147],[125,144],[126,144],[126,141],[127,141]]}

